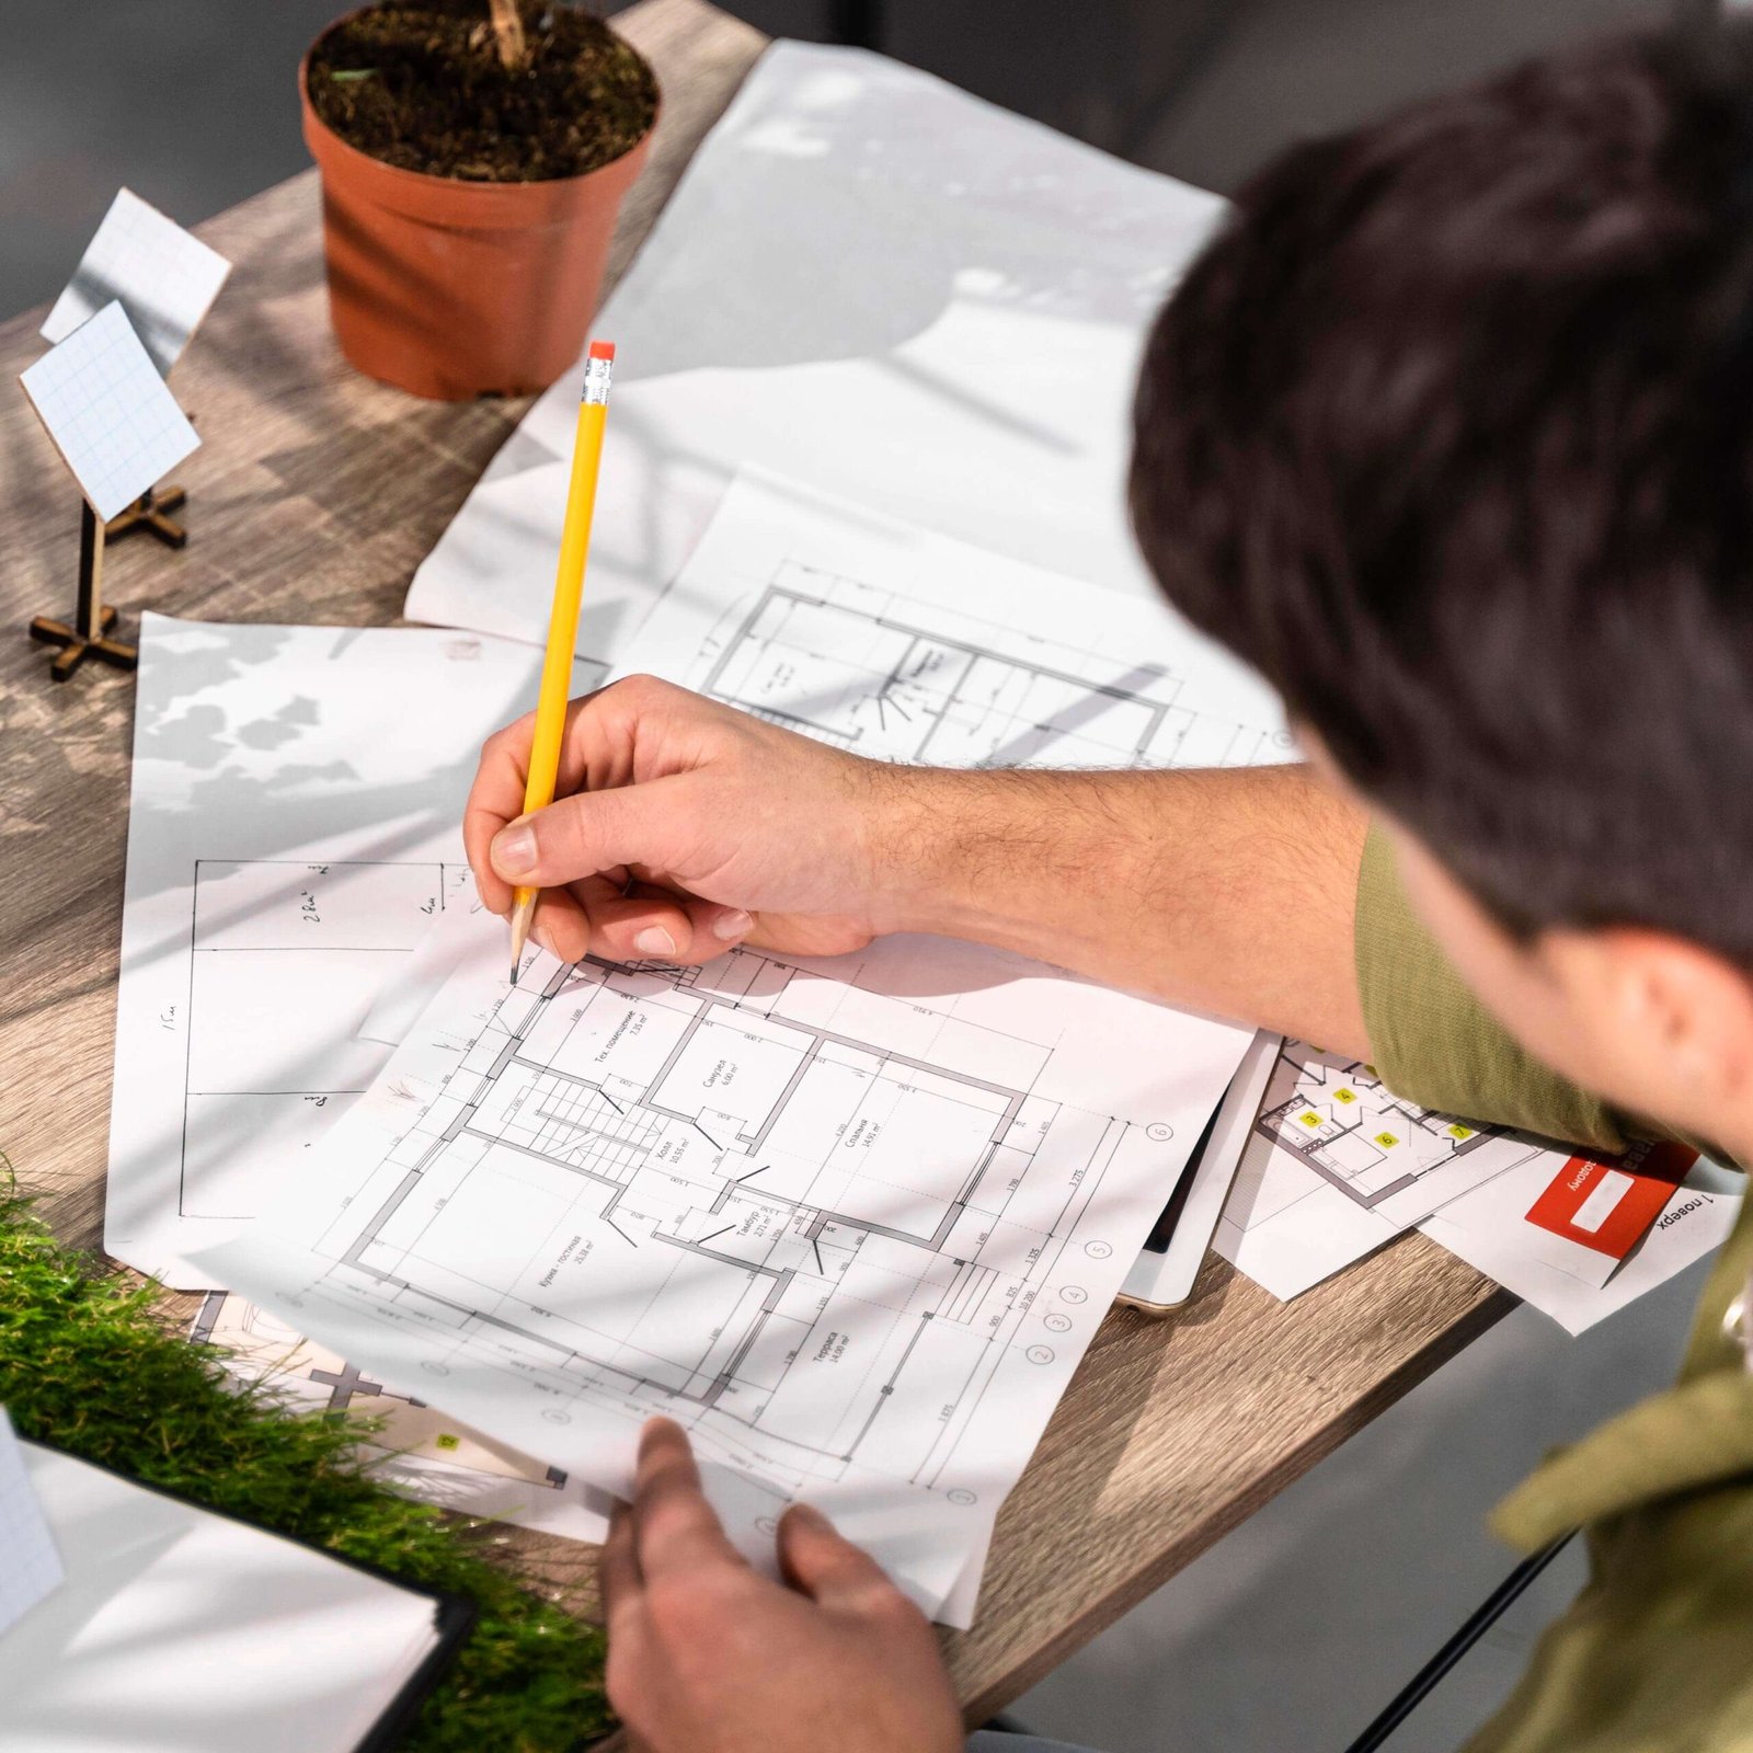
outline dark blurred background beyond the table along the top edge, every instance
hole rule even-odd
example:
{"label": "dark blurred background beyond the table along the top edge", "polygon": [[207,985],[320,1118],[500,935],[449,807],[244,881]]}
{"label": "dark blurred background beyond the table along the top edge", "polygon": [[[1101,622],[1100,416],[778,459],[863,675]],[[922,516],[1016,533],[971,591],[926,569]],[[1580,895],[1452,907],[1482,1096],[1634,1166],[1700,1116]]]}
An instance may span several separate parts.
{"label": "dark blurred background beyond the table along the top edge", "polygon": [[[1281,142],[1627,21],[1653,0],[733,0],[1217,189]],[[195,223],[305,165],[293,70],[342,0],[7,5],[0,317],[51,298],[117,184]],[[608,7],[617,11],[617,7]]]}

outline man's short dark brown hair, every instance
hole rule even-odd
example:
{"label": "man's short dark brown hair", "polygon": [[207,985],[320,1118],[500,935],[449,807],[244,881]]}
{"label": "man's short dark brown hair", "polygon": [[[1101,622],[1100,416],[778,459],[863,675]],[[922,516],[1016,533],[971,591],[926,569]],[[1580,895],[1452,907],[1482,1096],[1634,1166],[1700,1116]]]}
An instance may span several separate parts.
{"label": "man's short dark brown hair", "polygon": [[1299,145],[1150,338],[1169,598],[1520,931],[1753,961],[1748,39]]}

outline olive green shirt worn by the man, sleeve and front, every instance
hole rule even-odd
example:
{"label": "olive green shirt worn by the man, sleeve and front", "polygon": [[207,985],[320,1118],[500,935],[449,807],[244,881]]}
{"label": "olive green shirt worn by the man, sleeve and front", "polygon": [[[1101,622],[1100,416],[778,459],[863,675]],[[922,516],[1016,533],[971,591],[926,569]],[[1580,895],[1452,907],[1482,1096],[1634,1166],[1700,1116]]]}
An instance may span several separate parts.
{"label": "olive green shirt worn by the man, sleeve and front", "polygon": [[[1357,971],[1376,1069],[1427,1108],[1623,1148],[1658,1136],[1532,1061],[1364,848]],[[1753,1201],[1711,1273],[1676,1387],[1558,1450],[1492,1525],[1534,1551],[1583,1527],[1590,1581],[1467,1753],[1753,1753],[1753,1376],[1730,1304]]]}

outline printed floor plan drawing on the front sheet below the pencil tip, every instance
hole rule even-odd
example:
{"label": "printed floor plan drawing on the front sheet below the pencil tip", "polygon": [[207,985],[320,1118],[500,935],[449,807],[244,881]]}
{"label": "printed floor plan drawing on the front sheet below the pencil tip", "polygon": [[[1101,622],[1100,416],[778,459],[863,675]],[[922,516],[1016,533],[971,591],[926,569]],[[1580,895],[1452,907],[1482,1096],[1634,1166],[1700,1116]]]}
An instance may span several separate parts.
{"label": "printed floor plan drawing on the front sheet below the pencil tip", "polygon": [[[968,1040],[985,1076],[940,1069],[947,1026],[750,952],[705,980],[556,969],[494,1010],[342,1260],[773,1439],[794,1485],[934,1483],[1127,1132],[1031,1097],[1022,1038]],[[543,1241],[487,1281],[498,1231]],[[957,1383],[929,1418],[913,1374]]]}

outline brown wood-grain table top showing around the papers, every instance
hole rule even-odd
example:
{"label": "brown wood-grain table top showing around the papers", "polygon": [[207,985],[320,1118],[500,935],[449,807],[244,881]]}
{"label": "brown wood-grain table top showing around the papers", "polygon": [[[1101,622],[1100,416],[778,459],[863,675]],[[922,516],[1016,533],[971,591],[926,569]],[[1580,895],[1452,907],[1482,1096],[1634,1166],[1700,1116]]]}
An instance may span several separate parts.
{"label": "brown wood-grain table top showing around the papers", "polygon": [[[612,273],[645,237],[764,39],[703,0],[617,25],[657,68],[663,124]],[[291,68],[287,68],[291,79]],[[175,389],[207,436],[179,472],[189,545],[112,550],[107,594],[209,621],[394,621],[415,563],[524,414],[438,405],[345,368],[328,326],[316,172],[200,228],[237,263]],[[70,608],[77,496],[14,386],[42,312],[0,328],[0,1146],[67,1239],[95,1245],[109,1124],[133,687],[54,685],[33,614]],[[980,1623],[945,1653],[971,1721],[1040,1679],[1511,1308],[1406,1236],[1285,1306],[1210,1260],[1167,1320],[1106,1320],[1004,1506]],[[587,1555],[515,1543],[580,1611]]]}

